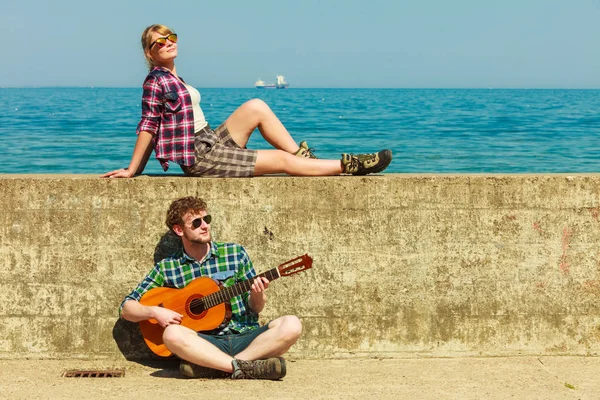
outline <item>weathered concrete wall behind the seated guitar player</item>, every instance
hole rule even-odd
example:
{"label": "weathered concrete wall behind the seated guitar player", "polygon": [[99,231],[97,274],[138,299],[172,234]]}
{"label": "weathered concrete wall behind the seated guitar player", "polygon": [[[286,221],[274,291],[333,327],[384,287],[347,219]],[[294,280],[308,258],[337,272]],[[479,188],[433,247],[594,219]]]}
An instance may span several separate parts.
{"label": "weathered concrete wall behind the seated guitar player", "polygon": [[117,307],[186,195],[259,272],[313,256],[262,315],[301,317],[292,357],[595,355],[599,189],[599,175],[0,176],[0,358],[147,357]]}

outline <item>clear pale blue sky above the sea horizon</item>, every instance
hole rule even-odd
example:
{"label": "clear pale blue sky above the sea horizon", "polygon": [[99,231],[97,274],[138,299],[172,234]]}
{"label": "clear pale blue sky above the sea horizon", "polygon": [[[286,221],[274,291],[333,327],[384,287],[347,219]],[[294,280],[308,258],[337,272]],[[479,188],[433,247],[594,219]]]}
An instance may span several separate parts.
{"label": "clear pale blue sky above the sea horizon", "polygon": [[600,88],[600,0],[0,0],[0,87],[139,87],[143,29],[198,87]]}

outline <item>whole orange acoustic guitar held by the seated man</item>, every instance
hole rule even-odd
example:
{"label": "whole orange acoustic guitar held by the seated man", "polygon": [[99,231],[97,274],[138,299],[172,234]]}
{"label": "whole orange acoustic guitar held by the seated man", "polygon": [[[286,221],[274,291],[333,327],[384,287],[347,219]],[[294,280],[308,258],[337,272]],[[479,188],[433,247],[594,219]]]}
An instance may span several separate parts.
{"label": "whole orange acoustic guitar held by the seated man", "polygon": [[[281,276],[290,276],[312,267],[312,258],[305,254],[289,260],[257,277],[273,281]],[[231,287],[223,287],[208,277],[194,279],[183,289],[159,287],[149,290],[142,296],[140,303],[145,306],[165,307],[182,314],[181,325],[196,332],[210,331],[225,327],[231,319],[230,300],[250,291],[252,280],[239,282]],[[144,341],[153,353],[168,357],[169,349],[162,341],[164,328],[156,319],[140,321],[140,331]]]}

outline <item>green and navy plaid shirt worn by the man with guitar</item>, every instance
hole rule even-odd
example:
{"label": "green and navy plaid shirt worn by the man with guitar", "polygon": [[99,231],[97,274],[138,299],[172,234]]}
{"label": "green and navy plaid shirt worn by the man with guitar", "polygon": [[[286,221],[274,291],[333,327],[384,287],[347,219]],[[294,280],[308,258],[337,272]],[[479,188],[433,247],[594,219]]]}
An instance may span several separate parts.
{"label": "green and navy plaid shirt worn by the man with guitar", "polygon": [[[119,307],[119,314],[127,300],[140,301],[144,293],[156,287],[182,289],[196,278],[206,276],[223,283],[225,287],[252,279],[256,271],[246,250],[235,243],[210,243],[210,252],[198,262],[185,254],[183,248],[173,256],[156,263],[144,280],[127,296]],[[232,317],[229,325],[218,334],[244,333],[256,329],[258,314],[248,305],[250,292],[231,299]]]}

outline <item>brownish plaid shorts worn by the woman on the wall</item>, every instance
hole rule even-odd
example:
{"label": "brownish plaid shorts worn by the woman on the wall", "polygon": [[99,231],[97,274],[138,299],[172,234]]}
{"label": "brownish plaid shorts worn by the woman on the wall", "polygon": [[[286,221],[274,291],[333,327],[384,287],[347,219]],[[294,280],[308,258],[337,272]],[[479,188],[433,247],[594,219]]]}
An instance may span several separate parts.
{"label": "brownish plaid shorts worn by the woman on the wall", "polygon": [[196,162],[186,175],[214,178],[254,176],[256,150],[241,148],[231,137],[225,123],[212,130],[209,125],[196,132]]}

